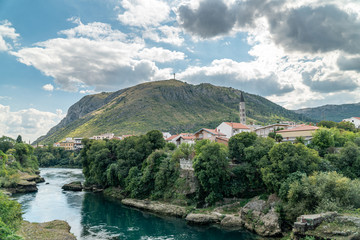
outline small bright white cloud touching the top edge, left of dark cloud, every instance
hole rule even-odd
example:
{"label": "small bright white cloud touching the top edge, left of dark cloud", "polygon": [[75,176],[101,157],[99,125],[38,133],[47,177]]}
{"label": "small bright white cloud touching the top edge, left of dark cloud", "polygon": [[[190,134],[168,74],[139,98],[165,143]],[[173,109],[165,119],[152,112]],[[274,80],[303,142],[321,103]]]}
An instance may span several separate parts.
{"label": "small bright white cloud touching the top edge, left of dark cloud", "polygon": [[118,15],[118,20],[130,26],[158,26],[170,14],[169,5],[160,0],[122,0],[121,7],[125,12]]}

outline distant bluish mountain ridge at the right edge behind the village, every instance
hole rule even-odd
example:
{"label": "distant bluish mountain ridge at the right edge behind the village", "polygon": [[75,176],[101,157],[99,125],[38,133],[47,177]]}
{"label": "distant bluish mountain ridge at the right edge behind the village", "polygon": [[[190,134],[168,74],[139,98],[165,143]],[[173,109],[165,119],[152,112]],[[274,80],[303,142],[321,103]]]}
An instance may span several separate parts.
{"label": "distant bluish mountain ridge at the right edge behind the village", "polygon": [[295,112],[318,121],[341,122],[344,118],[360,117],[360,103],[303,108]]}

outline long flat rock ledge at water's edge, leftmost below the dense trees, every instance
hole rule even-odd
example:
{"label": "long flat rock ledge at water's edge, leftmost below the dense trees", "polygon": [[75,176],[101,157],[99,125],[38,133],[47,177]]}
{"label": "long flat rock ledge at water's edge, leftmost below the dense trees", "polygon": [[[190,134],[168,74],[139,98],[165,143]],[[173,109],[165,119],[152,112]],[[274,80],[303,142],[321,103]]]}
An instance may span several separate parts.
{"label": "long flat rock ledge at water's edge, leftmost below the dense trees", "polygon": [[149,212],[153,212],[161,215],[180,217],[180,218],[186,216],[185,207],[181,207],[173,204],[146,201],[146,200],[137,200],[130,198],[123,199],[121,203],[126,206],[147,210]]}

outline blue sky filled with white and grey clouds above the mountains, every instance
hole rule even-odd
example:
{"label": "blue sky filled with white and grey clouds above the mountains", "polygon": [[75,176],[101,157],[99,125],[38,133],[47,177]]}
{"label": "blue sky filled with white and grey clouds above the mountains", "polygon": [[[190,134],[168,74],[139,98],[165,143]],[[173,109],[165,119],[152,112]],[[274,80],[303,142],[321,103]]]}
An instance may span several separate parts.
{"label": "blue sky filled with white and grey clouds above the mountains", "polygon": [[358,0],[0,0],[0,135],[173,78],[287,108],[360,102]]}

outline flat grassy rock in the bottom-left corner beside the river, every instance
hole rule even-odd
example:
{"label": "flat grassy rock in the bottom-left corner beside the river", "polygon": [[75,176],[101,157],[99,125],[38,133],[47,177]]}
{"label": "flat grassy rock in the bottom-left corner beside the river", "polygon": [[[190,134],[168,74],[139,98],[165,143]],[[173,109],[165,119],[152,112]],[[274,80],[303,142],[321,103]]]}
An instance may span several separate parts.
{"label": "flat grassy rock in the bottom-left corner beside the river", "polygon": [[69,224],[60,220],[45,223],[23,221],[16,234],[24,240],[76,240],[76,237],[70,233]]}

